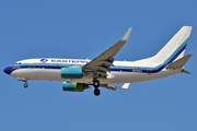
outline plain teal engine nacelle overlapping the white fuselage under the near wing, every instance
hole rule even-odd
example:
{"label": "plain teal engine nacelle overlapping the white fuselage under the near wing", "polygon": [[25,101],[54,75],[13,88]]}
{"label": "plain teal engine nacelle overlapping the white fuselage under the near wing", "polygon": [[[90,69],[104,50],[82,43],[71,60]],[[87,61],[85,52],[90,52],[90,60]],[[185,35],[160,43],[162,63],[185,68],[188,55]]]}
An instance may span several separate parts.
{"label": "plain teal engine nacelle overlapping the white fuselage under the near wing", "polygon": [[61,68],[62,79],[82,79],[81,68]]}

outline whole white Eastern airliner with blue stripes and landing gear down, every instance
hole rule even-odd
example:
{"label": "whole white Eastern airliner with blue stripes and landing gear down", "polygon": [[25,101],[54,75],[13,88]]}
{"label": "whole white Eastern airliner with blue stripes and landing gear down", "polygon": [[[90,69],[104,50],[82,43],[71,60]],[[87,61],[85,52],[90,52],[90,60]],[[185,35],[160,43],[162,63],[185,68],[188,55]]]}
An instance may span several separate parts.
{"label": "whole white Eastern airliner with blue stripes and landing gear down", "polygon": [[[187,73],[184,66],[192,53],[184,56],[192,26],[183,26],[170,41],[153,57],[137,61],[115,61],[115,55],[126,44],[131,27],[124,37],[103,53],[89,59],[39,58],[25,59],[7,67],[3,71],[16,78],[27,80],[60,81],[62,91],[83,92],[94,86],[94,95],[101,94],[99,87],[112,91],[126,90],[130,83],[155,80],[177,73]],[[121,87],[114,83],[125,83]]]}

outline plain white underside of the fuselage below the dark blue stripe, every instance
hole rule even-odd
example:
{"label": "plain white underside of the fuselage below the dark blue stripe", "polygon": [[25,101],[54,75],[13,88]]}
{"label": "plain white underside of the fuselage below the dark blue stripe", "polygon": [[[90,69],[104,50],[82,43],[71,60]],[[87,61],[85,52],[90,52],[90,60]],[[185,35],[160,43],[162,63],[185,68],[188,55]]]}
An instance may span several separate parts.
{"label": "plain white underside of the fuselage below the dark blue stripe", "polygon": [[[176,72],[172,73],[175,74]],[[178,73],[178,72],[177,72]],[[106,79],[99,79],[101,84],[107,83],[134,83],[154,79],[164,78],[169,74],[166,71],[160,73],[139,73],[139,72],[107,72]],[[83,76],[82,79],[62,79],[60,69],[18,69],[11,73],[14,78],[22,78],[26,80],[42,80],[42,81],[67,81],[92,84],[92,76]]]}

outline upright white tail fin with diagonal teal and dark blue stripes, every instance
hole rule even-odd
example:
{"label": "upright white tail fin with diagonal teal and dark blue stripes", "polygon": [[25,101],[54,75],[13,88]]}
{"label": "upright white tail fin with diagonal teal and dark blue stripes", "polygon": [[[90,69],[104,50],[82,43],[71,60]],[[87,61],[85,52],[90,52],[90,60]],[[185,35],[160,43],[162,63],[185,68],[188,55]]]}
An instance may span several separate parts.
{"label": "upright white tail fin with diagonal teal and dark blue stripes", "polygon": [[153,57],[159,63],[170,64],[182,58],[185,52],[192,26],[183,26],[171,40]]}

